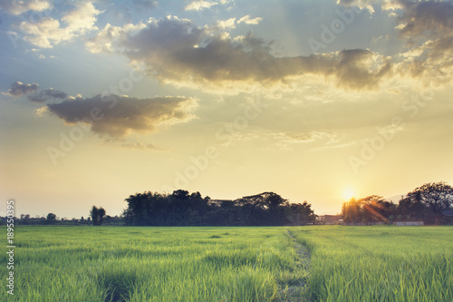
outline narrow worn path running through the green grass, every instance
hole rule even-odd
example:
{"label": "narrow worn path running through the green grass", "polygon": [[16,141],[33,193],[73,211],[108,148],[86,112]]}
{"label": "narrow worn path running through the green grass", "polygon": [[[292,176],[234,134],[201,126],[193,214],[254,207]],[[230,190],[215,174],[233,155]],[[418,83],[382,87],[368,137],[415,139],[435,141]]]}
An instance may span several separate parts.
{"label": "narrow worn path running through the green grass", "polygon": [[306,247],[297,242],[297,240],[294,238],[293,234],[291,234],[291,231],[289,229],[286,229],[286,235],[293,240],[294,249],[298,256],[294,270],[304,271],[303,274],[304,278],[297,278],[285,284],[284,287],[282,287],[280,290],[279,298],[277,299],[277,301],[279,302],[306,301],[306,299],[304,298],[304,292],[307,286],[306,281],[308,278],[310,260],[312,258],[312,255],[310,254],[310,251]]}

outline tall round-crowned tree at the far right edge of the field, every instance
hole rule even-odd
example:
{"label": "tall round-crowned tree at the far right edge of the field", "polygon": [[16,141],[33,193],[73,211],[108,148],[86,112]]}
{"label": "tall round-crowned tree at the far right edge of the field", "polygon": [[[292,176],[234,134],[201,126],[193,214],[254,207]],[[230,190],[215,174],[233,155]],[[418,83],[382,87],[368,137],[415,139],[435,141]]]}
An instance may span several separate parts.
{"label": "tall round-crowned tree at the far right edge of the field", "polygon": [[408,194],[411,200],[419,200],[430,209],[439,224],[443,212],[453,204],[453,187],[447,182],[429,182]]}

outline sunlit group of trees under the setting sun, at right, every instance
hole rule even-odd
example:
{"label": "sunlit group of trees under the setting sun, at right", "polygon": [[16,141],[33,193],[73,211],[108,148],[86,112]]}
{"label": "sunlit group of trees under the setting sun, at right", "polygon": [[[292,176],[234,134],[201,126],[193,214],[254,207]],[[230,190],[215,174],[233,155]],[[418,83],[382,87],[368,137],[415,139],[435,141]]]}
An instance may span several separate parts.
{"label": "sunlit group of trees under the setting sun, at right", "polygon": [[377,195],[352,198],[342,204],[342,219],[345,223],[417,220],[439,225],[452,222],[444,215],[449,210],[453,210],[453,187],[440,181],[410,191],[398,204]]}

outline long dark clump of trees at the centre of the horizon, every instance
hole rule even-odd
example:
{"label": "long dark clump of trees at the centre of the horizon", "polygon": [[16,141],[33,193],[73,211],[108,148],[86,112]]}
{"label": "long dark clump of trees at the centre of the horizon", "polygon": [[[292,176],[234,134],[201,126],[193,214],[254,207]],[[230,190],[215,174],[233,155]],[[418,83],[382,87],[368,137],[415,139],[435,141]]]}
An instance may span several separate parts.
{"label": "long dark clump of trees at the centre of the horizon", "polygon": [[126,199],[123,217],[132,226],[282,226],[314,223],[312,205],[290,203],[274,192],[237,200],[211,200],[199,192],[143,192]]}

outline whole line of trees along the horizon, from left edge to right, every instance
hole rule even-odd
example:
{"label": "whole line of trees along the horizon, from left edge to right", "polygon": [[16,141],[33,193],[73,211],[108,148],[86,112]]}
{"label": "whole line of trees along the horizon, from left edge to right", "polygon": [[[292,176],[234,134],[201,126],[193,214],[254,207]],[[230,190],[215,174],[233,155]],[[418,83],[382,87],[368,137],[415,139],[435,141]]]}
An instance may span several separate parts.
{"label": "whole line of trees along the horizon, from left edge to right", "polygon": [[[290,203],[275,192],[264,192],[237,200],[211,200],[199,192],[175,190],[171,194],[145,191],[130,195],[122,215],[106,215],[92,206],[84,219],[31,218],[22,214],[14,223],[23,225],[130,225],[130,226],[283,226],[322,223],[312,205]],[[449,215],[445,215],[448,213]],[[417,220],[425,224],[453,224],[453,187],[429,182],[402,196],[398,203],[371,195],[342,204],[344,223],[392,223]],[[0,217],[0,224],[5,218]]]}

